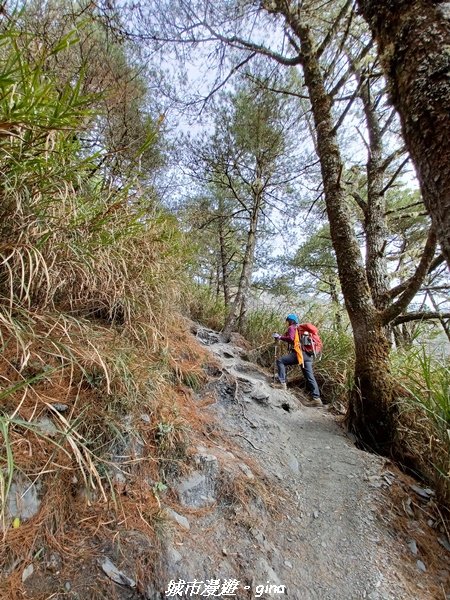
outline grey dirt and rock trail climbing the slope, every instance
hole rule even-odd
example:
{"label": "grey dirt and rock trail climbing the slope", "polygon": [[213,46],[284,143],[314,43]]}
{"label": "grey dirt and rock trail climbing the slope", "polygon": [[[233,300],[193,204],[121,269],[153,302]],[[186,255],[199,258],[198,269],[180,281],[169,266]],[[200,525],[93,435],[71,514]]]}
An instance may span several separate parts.
{"label": "grey dirt and rock trail climbing the slope", "polygon": [[[420,554],[381,516],[382,482],[395,477],[385,460],[355,448],[328,411],[270,388],[241,349],[204,328],[196,333],[221,365],[201,396],[216,395],[208,410],[236,446],[198,448],[197,473],[179,483],[190,530],[180,527],[167,549],[168,580],[238,580],[234,597],[243,599],[282,597],[283,586],[298,600],[445,598],[419,568]],[[275,515],[257,497],[233,501],[258,471]],[[267,593],[269,584],[278,587]]]}

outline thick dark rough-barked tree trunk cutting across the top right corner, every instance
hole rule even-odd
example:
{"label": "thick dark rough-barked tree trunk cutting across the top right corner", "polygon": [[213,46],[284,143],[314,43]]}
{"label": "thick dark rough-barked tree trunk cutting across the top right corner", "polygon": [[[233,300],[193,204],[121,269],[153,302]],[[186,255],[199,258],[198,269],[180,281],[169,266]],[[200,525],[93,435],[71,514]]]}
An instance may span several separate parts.
{"label": "thick dark rough-barked tree trunk cutting across the top right corner", "polygon": [[435,0],[358,0],[378,42],[423,200],[450,266],[450,17]]}

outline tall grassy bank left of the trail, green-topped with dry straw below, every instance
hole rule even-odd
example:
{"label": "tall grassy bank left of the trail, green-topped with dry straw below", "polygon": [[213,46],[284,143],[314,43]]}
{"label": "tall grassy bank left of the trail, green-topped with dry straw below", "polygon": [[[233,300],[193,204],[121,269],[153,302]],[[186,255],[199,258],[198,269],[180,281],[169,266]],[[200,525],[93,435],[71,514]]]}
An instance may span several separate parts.
{"label": "tall grassy bank left of the trail, green-topped with dry straw below", "polygon": [[[0,138],[0,593],[8,600],[24,597],[24,566],[39,570],[52,552],[69,568],[124,530],[157,547],[167,479],[187,468],[207,426],[194,401],[206,355],[176,317],[184,238],[139,167],[118,177],[83,147],[103,115],[82,95],[81,74],[62,81],[49,68],[69,38],[36,48],[13,19],[0,31],[0,113],[11,130]],[[147,150],[157,136],[153,124]],[[7,511],[18,477],[41,486],[30,519]]]}

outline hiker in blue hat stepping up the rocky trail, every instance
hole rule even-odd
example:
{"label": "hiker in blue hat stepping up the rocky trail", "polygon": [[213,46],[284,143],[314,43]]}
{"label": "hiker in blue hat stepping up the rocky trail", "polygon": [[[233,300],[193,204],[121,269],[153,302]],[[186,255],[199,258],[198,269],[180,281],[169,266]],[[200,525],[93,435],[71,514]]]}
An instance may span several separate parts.
{"label": "hiker in blue hat stepping up the rocky trail", "polygon": [[[279,383],[274,383],[273,387],[286,389],[286,367],[289,365],[300,364],[303,376],[306,381],[306,389],[311,394],[311,400],[302,401],[307,406],[323,406],[322,400],[320,399],[319,386],[317,385],[316,378],[314,377],[313,362],[314,362],[314,351],[311,348],[311,352],[302,349],[300,346],[299,336],[299,325],[297,315],[290,314],[286,317],[288,325],[287,331],[284,335],[274,333],[273,338],[278,342],[287,342],[289,347],[289,354],[285,354],[280,358],[277,358],[277,371]],[[308,348],[308,347],[307,347]]]}

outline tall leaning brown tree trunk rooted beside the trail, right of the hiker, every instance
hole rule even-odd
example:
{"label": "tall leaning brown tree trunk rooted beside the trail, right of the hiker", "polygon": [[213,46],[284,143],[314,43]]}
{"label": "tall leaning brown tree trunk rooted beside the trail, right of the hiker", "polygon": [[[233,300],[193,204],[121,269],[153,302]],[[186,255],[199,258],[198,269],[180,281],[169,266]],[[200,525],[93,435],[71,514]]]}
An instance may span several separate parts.
{"label": "tall leaning brown tree trunk rooted beside the trail, right of the hiker", "polygon": [[325,202],[339,280],[355,340],[355,389],[350,399],[349,428],[374,450],[387,452],[393,441],[389,344],[375,309],[361,252],[349,219],[341,184],[343,162],[321,67],[311,32],[293,12],[286,15],[301,41],[302,66],[317,132]]}

